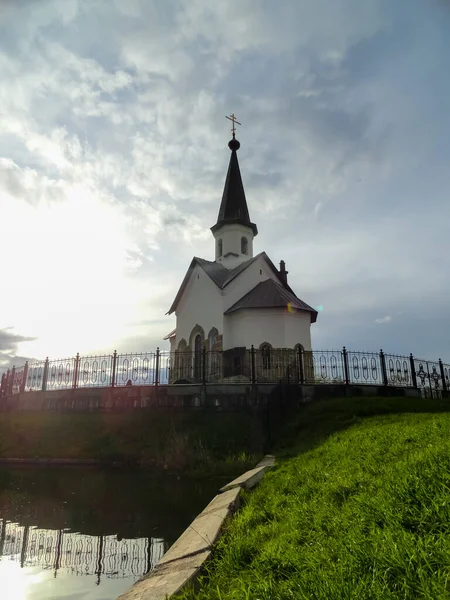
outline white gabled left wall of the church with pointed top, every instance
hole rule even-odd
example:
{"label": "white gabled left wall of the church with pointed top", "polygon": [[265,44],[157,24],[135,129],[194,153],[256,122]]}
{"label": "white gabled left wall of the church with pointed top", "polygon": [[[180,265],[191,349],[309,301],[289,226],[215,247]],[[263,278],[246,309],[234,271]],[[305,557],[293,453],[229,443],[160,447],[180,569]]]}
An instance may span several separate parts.
{"label": "white gabled left wall of the church with pointed top", "polygon": [[198,265],[192,272],[175,314],[177,346],[183,338],[189,344],[189,336],[197,324],[203,327],[205,336],[213,327],[222,333],[223,309],[220,290]]}

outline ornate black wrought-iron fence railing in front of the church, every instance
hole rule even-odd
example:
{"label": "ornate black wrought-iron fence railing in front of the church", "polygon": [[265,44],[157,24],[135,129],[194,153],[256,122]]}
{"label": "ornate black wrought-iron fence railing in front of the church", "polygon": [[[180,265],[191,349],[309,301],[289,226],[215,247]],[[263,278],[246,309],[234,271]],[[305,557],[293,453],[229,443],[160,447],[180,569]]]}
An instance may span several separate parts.
{"label": "ornate black wrought-iron fence railing in front of the church", "polygon": [[347,350],[250,349],[104,354],[25,363],[2,375],[0,397],[36,390],[132,385],[296,383],[450,391],[450,365],[397,354]]}

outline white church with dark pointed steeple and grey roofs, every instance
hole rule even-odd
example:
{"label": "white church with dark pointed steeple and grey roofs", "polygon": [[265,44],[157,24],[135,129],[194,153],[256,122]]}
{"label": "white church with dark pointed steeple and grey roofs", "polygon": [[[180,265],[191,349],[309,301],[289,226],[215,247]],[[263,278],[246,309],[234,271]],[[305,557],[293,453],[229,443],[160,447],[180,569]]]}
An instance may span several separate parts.
{"label": "white church with dark pointed steeple and grey roofs", "polygon": [[[167,313],[176,316],[176,328],[164,338],[175,356],[172,380],[189,379],[192,369],[200,368],[205,351],[220,354],[218,378],[226,379],[245,375],[252,346],[266,370],[280,351],[289,350],[294,356],[300,347],[311,350],[310,329],[317,311],[289,286],[284,261],[277,269],[265,252],[254,255],[258,229],[250,220],[234,128],[228,147],[225,187],[217,222],[211,227],[215,260],[192,259]],[[183,358],[188,355],[193,357],[189,365]]]}

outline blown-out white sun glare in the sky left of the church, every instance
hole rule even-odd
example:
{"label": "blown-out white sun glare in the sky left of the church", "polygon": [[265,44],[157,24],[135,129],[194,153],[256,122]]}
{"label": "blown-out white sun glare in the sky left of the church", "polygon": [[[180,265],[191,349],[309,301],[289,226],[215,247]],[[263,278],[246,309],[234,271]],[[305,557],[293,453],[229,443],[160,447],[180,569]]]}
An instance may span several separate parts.
{"label": "blown-out white sun glare in the sky left of the church", "polygon": [[140,297],[129,277],[133,242],[120,206],[82,186],[57,203],[0,198],[0,205],[13,224],[0,238],[0,252],[10,257],[2,266],[0,328],[20,323],[17,333],[39,338],[21,353],[37,357],[112,345]]}

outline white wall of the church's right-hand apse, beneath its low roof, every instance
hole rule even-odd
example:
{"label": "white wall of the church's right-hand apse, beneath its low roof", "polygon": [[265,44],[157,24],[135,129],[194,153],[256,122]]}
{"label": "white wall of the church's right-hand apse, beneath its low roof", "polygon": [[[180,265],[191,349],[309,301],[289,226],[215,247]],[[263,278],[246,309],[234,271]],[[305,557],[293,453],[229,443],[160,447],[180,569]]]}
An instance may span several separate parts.
{"label": "white wall of the church's right-hand apse, beneath its low roof", "polygon": [[309,314],[289,314],[284,309],[243,309],[226,315],[224,350],[268,342],[274,348],[294,348],[302,344],[311,349]]}

